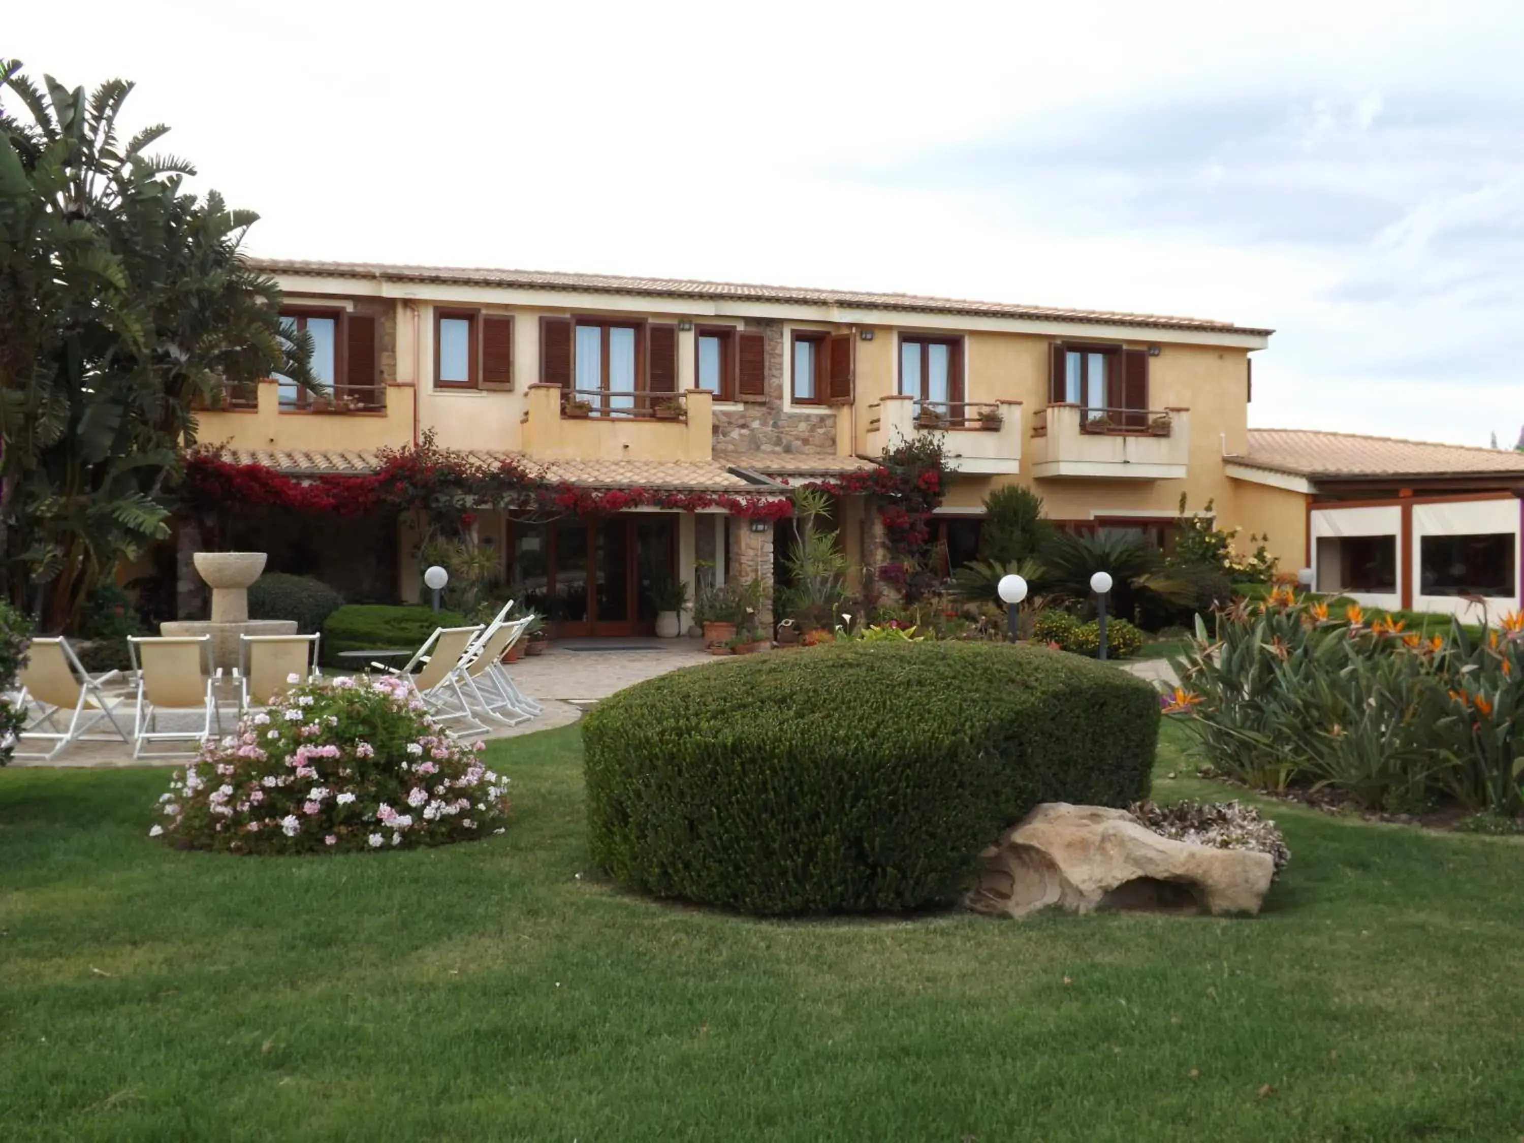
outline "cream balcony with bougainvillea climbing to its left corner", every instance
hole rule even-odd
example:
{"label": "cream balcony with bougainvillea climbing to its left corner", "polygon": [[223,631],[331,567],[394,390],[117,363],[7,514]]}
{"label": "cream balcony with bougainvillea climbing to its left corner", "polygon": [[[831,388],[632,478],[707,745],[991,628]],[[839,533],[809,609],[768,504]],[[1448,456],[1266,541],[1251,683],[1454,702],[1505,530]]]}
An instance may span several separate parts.
{"label": "cream balcony with bougainvillea climbing to its left corner", "polygon": [[1020,401],[916,401],[885,396],[869,405],[864,456],[881,456],[902,440],[942,434],[946,466],[952,472],[1021,471]]}

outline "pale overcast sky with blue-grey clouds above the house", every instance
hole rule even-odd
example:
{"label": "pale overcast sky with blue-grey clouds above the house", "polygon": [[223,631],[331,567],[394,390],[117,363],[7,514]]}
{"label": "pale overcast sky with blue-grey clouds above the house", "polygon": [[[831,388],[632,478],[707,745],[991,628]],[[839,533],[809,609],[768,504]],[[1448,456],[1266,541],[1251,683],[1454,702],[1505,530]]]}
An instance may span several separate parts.
{"label": "pale overcast sky with blue-grey clouds above the house", "polygon": [[[1512,445],[1524,3],[11,5],[255,253],[1277,329],[1251,424]],[[64,18],[67,15],[67,20]]]}

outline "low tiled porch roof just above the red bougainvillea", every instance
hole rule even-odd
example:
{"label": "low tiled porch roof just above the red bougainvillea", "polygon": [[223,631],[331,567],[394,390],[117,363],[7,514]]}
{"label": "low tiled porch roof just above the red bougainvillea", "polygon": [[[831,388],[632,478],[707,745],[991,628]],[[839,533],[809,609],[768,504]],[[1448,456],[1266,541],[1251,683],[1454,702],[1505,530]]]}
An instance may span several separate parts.
{"label": "low tiled porch roof just above the red bougainvillea", "polygon": [[[264,465],[291,475],[325,472],[361,474],[379,466],[379,456],[369,451],[277,451],[227,450],[224,456],[239,465]],[[552,482],[584,488],[654,488],[675,492],[747,492],[765,485],[735,475],[724,460],[532,460],[518,453],[471,451],[474,460],[495,463],[512,457],[530,472]]]}

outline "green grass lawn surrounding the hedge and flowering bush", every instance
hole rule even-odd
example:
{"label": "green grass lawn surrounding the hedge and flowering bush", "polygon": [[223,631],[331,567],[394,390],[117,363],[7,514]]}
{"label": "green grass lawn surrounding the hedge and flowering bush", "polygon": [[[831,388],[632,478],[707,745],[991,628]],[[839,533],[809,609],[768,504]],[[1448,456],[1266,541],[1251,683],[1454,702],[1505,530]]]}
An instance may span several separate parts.
{"label": "green grass lawn surrounding the hedge and flowering bush", "polygon": [[[1221,796],[1180,733],[1158,796]],[[0,771],[0,1138],[1524,1132],[1524,840],[1276,806],[1257,919],[762,924],[590,875],[575,728],[492,760],[506,835],[334,858],[151,843],[163,771]]]}

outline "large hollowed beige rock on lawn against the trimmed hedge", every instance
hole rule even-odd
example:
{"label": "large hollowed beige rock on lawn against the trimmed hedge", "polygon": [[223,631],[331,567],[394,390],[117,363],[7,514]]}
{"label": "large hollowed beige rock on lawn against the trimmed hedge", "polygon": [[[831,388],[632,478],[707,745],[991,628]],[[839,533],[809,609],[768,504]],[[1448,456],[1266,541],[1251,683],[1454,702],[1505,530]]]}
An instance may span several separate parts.
{"label": "large hollowed beige rock on lawn against the trimmed hedge", "polygon": [[1023,917],[1070,913],[1259,913],[1276,863],[1268,853],[1173,841],[1131,814],[1045,802],[981,855],[965,904]]}

